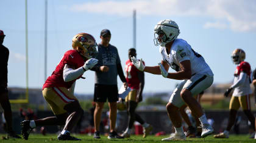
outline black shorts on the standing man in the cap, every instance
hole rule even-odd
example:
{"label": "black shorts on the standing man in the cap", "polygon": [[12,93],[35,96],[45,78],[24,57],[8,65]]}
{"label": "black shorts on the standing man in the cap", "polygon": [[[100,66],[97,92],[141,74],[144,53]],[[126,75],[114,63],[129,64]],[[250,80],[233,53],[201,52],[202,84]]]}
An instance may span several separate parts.
{"label": "black shorts on the standing man in the cap", "polygon": [[94,102],[118,101],[117,85],[94,84]]}

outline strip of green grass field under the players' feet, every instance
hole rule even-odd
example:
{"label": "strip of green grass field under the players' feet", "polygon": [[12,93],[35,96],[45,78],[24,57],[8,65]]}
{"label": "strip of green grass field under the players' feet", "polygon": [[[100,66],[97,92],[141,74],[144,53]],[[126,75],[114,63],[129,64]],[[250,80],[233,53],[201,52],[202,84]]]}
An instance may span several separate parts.
{"label": "strip of green grass field under the players' feet", "polygon": [[[101,136],[101,139],[93,139],[93,136],[87,136],[87,135],[74,135],[77,138],[82,139],[82,141],[58,141],[57,135],[37,135],[37,134],[32,134],[29,136],[29,140],[28,141],[24,141],[23,139],[3,139],[4,135],[0,135],[2,138],[0,140],[0,142],[4,142],[4,143],[9,143],[9,142],[15,142],[15,143],[30,143],[30,142],[34,142],[34,143],[55,143],[55,142],[63,142],[63,143],[71,143],[71,142],[143,142],[143,143],[148,143],[148,142],[162,142],[161,139],[162,138],[166,138],[167,136],[148,136],[147,138],[142,138],[142,136],[131,136],[131,138],[126,138],[126,139],[115,139],[115,140],[110,140],[107,139],[107,136]],[[183,143],[183,142],[202,142],[202,143],[213,143],[213,142],[224,142],[224,143],[228,143],[228,142],[232,142],[232,143],[244,143],[244,142],[256,142],[255,139],[249,139],[248,135],[231,135],[229,139],[215,139],[213,138],[213,136],[208,136],[207,138],[187,138],[187,141],[176,141],[179,143]]]}

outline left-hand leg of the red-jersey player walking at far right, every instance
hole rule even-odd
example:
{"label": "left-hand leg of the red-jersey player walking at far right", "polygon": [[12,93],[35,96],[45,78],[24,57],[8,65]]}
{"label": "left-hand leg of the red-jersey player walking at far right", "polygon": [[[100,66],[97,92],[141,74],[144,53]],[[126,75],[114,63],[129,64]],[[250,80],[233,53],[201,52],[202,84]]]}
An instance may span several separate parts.
{"label": "left-hand leg of the red-jersey player walking at far right", "polygon": [[238,97],[232,96],[229,103],[229,122],[227,123],[227,128],[222,133],[213,136],[214,138],[229,138],[229,131],[235,124],[236,113],[240,108],[240,102]]}

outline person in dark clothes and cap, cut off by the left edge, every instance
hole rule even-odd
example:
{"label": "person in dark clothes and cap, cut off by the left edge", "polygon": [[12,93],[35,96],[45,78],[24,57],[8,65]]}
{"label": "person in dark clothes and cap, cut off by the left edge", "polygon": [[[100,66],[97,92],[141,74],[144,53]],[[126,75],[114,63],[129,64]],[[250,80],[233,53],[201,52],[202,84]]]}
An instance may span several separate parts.
{"label": "person in dark clothes and cap, cut off by the left edge", "polygon": [[9,59],[9,49],[2,45],[4,42],[4,32],[0,30],[0,104],[2,108],[4,109],[4,118],[6,121],[6,128],[7,128],[7,136],[11,138],[17,138],[20,139],[21,137],[16,135],[15,131],[13,131],[12,127],[12,109],[10,106],[10,101],[8,97],[8,88],[7,88],[7,82],[8,82],[8,59]]}

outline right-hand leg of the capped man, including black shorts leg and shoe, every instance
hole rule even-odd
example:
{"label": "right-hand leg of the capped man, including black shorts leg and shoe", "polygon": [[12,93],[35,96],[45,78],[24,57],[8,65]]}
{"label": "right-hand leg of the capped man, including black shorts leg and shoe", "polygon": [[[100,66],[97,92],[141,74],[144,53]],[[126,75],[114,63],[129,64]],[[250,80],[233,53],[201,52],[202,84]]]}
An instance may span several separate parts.
{"label": "right-hand leg of the capped man, including black shorts leg and shoe", "polygon": [[109,107],[109,119],[110,119],[110,133],[108,139],[123,139],[123,136],[119,136],[115,131],[116,127],[116,115],[117,115],[117,105],[118,101],[118,87],[117,85],[108,85],[108,107]]}

